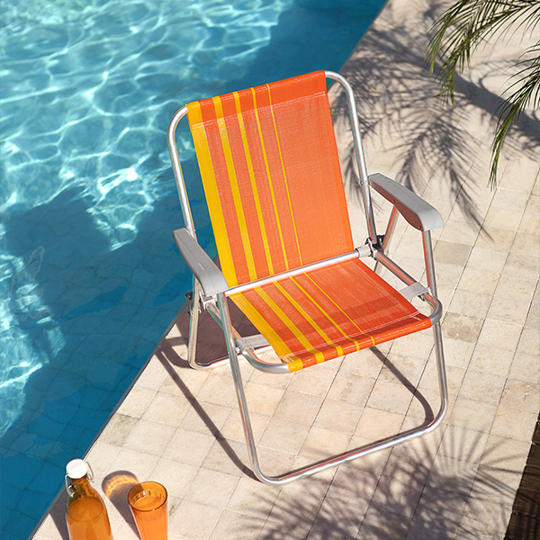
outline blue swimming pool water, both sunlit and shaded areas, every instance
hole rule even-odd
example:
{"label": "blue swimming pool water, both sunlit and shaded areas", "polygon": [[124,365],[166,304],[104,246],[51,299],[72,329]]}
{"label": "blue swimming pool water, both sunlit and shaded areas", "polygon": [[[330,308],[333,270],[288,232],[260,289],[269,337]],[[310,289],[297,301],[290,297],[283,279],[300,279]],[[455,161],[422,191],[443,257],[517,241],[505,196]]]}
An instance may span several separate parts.
{"label": "blue swimming pool water, both sunlit and shaded areas", "polygon": [[[0,536],[25,539],[183,304],[166,127],[195,98],[338,70],[383,0],[0,4]],[[337,8],[337,6],[339,6]],[[332,8],[332,9],[329,9]],[[213,238],[178,134],[198,236]]]}

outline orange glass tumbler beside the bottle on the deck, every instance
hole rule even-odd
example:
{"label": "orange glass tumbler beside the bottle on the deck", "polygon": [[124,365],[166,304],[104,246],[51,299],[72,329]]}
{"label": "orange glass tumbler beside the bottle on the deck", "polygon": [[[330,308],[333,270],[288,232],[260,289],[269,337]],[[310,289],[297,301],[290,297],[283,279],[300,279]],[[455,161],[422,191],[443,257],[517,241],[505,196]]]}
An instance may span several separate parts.
{"label": "orange glass tumbler beside the bottle on the deck", "polygon": [[157,482],[141,482],[128,494],[141,540],[166,540],[166,489]]}

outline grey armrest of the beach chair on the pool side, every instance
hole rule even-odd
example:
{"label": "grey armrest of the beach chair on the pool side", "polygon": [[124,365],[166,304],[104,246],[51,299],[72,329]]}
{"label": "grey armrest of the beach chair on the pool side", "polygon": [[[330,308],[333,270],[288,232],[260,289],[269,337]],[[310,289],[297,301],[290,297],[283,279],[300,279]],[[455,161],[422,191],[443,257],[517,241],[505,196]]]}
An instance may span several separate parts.
{"label": "grey armrest of the beach chair on the pool side", "polygon": [[176,229],[173,231],[173,238],[175,238],[180,255],[184,257],[185,264],[201,284],[205,296],[213,296],[229,289],[218,266],[208,257],[187,229]]}

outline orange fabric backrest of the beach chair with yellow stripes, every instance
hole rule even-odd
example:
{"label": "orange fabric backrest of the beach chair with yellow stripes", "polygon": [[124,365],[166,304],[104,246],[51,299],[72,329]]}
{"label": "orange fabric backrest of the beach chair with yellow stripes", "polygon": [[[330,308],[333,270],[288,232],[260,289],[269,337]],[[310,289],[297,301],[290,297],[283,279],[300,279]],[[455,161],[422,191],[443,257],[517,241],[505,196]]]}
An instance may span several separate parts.
{"label": "orange fabric backrest of the beach chair with yellow stripes", "polygon": [[229,287],[354,249],[323,71],[186,107]]}

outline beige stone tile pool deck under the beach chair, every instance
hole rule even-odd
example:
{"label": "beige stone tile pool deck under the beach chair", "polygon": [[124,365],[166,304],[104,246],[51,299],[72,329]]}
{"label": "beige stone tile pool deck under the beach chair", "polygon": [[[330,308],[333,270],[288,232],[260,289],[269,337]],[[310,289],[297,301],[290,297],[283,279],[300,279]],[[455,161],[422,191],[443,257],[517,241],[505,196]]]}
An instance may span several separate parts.
{"label": "beige stone tile pool deck under the beach chair", "polygon": [[[540,121],[527,113],[509,138],[491,191],[495,94],[524,44],[480,51],[457,81],[455,107],[442,108],[423,65],[435,6],[390,0],[342,73],[361,99],[369,172],[410,184],[446,221],[434,235],[450,392],[443,425],[310,479],[263,485],[248,468],[229,367],[188,367],[183,313],[86,456],[115,540],[139,537],[125,495],[143,480],[169,492],[171,540],[505,536],[540,410]],[[347,156],[339,96],[334,103]],[[347,158],[343,166],[363,243]],[[376,203],[382,234],[390,209]],[[391,252],[421,276],[418,231],[401,221]],[[201,354],[220,354],[220,330],[205,327]],[[439,402],[430,338],[417,334],[293,376],[242,362],[266,472],[425,420]],[[67,540],[64,504],[61,494],[35,540]]]}

